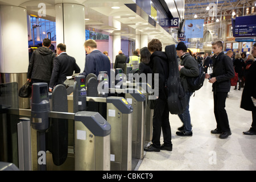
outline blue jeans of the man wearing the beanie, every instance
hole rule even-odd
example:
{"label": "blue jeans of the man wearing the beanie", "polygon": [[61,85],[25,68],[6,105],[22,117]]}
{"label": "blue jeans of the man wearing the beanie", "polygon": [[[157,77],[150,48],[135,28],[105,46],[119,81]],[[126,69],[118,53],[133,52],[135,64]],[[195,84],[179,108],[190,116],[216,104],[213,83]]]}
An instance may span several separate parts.
{"label": "blue jeans of the man wearing the beanie", "polygon": [[178,114],[181,122],[183,122],[183,124],[184,124],[184,131],[187,133],[192,131],[191,118],[190,118],[190,113],[189,113],[189,100],[190,100],[190,97],[192,94],[193,94],[193,92],[186,92],[188,105],[187,105],[186,109],[184,110],[183,114]]}

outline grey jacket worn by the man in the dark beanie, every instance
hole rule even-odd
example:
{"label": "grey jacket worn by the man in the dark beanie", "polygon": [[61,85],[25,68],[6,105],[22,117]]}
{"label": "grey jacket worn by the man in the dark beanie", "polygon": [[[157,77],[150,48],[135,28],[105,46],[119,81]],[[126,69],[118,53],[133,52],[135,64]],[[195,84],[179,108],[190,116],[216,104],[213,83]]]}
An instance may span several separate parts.
{"label": "grey jacket worn by the man in the dark beanie", "polygon": [[187,77],[199,76],[197,61],[189,53],[185,53],[183,56],[181,56],[180,65],[184,66],[184,68],[180,69],[180,78],[184,91],[193,92],[193,90],[188,88]]}

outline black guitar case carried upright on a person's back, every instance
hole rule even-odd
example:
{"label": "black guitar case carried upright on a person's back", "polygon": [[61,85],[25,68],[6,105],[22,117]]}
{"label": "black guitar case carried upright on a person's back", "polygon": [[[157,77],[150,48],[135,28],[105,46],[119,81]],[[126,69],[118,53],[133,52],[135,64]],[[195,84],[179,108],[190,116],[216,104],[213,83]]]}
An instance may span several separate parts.
{"label": "black guitar case carried upright on a person's back", "polygon": [[165,53],[169,67],[169,76],[167,79],[168,110],[171,114],[182,114],[187,106],[187,99],[183,85],[181,84],[175,45],[166,46]]}

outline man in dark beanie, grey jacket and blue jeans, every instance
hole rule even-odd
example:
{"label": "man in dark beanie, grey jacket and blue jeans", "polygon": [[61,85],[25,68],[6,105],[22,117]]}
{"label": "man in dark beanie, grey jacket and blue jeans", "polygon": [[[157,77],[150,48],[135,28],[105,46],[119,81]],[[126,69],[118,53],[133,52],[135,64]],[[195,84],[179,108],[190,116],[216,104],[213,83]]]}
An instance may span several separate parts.
{"label": "man in dark beanie, grey jacket and blue jeans", "polygon": [[177,44],[177,56],[179,56],[181,59],[179,65],[180,78],[187,97],[187,107],[184,113],[178,114],[181,122],[183,122],[183,126],[179,127],[178,130],[180,131],[177,131],[176,134],[181,137],[192,136],[191,118],[189,113],[189,100],[194,90],[189,89],[187,77],[199,76],[197,61],[187,51],[188,49],[187,46],[185,46],[184,42],[179,42]]}

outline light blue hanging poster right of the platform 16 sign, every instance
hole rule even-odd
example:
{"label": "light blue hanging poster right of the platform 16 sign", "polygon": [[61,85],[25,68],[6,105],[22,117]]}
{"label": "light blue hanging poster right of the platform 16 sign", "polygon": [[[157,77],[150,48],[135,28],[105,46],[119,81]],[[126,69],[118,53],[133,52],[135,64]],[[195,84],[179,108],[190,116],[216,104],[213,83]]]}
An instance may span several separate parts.
{"label": "light blue hanging poster right of the platform 16 sign", "polygon": [[203,38],[204,36],[204,19],[190,19],[185,20],[185,37]]}

